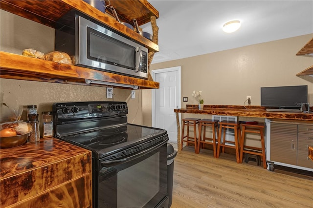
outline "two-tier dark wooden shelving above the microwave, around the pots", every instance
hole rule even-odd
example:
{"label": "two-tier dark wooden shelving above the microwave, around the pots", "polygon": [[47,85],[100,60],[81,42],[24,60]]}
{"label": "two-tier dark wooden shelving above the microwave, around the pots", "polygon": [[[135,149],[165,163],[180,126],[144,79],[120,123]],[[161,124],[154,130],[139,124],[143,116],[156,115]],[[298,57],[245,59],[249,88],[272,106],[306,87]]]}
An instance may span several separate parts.
{"label": "two-tier dark wooden shelving above the microwave, around the pots", "polygon": [[[158,18],[158,11],[147,0],[111,0],[111,5],[116,7],[121,21],[132,22],[135,18],[141,25],[149,22],[151,16]],[[52,28],[55,28],[55,22],[59,18],[69,10],[75,9],[145,45],[149,51],[159,51],[156,43],[142,37],[83,0],[1,0],[0,8]],[[107,12],[111,12],[110,9],[107,9]]]}

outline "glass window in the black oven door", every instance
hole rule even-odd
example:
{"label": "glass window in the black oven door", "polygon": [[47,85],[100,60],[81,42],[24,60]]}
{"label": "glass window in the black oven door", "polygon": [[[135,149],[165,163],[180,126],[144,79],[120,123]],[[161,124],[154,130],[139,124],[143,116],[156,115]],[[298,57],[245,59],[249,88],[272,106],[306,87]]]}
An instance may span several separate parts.
{"label": "glass window in the black oven door", "polygon": [[119,171],[117,174],[117,207],[143,207],[159,191],[159,152]]}

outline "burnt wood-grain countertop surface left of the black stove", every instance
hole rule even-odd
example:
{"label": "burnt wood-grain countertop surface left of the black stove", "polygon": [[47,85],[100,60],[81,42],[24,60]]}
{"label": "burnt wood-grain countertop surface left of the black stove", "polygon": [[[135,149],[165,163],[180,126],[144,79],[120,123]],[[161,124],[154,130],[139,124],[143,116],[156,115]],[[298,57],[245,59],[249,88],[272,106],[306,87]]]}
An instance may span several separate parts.
{"label": "burnt wood-grain countertop surface left of the black stove", "polygon": [[0,180],[89,152],[56,138],[0,149]]}

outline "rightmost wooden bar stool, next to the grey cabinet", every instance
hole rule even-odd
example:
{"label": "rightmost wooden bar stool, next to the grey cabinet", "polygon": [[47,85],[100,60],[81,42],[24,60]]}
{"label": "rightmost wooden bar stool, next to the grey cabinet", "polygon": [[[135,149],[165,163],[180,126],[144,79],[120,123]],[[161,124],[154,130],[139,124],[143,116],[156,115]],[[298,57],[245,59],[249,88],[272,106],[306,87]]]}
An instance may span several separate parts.
{"label": "rightmost wooden bar stool, next to the grey cabinet", "polygon": [[[263,160],[263,167],[267,168],[266,163],[266,155],[265,155],[265,141],[264,141],[264,124],[241,124],[242,126],[242,138],[241,138],[241,148],[240,148],[240,163],[243,162],[243,155],[244,153],[252,154],[252,155],[259,155],[262,156]],[[254,146],[246,146],[245,145],[245,135],[246,133],[255,133],[261,136],[261,148],[254,147]]]}

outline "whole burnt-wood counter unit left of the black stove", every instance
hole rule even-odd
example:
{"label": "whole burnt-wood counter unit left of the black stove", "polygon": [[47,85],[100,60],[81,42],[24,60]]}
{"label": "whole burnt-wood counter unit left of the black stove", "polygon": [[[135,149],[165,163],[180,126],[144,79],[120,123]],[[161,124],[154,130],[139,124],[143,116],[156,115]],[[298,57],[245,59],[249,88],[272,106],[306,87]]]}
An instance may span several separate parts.
{"label": "whole burnt-wood counter unit left of the black stove", "polygon": [[0,149],[0,207],[92,207],[91,151],[56,138]]}

